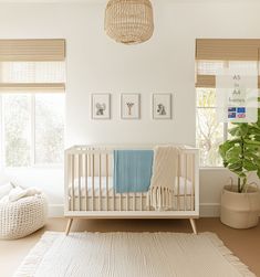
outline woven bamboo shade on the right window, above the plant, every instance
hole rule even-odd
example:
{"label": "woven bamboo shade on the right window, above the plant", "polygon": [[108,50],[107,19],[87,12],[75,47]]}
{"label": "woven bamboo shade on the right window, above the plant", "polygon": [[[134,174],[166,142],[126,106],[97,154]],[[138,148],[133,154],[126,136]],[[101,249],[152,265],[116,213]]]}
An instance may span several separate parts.
{"label": "woven bamboo shade on the right window, above the plant", "polygon": [[[217,71],[223,67],[259,72],[259,39],[197,39],[196,87],[216,87]],[[258,77],[260,88],[260,76]]]}

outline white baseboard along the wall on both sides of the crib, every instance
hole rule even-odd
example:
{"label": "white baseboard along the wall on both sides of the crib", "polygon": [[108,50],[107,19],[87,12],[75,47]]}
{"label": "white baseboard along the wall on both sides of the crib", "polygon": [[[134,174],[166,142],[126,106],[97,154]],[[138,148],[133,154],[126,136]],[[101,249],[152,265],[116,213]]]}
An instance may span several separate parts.
{"label": "white baseboard along the wall on both sides of the crib", "polygon": [[[218,217],[220,214],[219,203],[200,203],[200,217]],[[49,205],[49,217],[62,217],[64,216],[63,204],[50,204]]]}

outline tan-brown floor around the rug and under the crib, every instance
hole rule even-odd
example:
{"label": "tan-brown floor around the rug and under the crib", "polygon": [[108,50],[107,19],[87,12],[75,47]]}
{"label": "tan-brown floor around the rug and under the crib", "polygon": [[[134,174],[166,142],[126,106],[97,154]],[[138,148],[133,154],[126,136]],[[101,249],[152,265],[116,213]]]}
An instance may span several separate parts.
{"label": "tan-brown floor around the rug and under the crib", "polygon": [[[0,241],[0,276],[11,277],[23,257],[45,231],[63,232],[65,219],[50,219],[44,228],[17,239]],[[220,223],[219,219],[200,219],[198,232],[214,232],[226,246],[260,276],[260,225],[250,230],[233,230]],[[193,232],[188,220],[74,220],[72,232]]]}

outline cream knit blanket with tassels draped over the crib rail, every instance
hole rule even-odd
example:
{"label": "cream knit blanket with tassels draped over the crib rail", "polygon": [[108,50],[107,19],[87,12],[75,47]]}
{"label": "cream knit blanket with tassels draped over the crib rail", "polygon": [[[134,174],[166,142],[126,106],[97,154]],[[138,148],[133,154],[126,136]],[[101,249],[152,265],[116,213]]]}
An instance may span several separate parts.
{"label": "cream knit blanket with tassels draped over the crib rail", "polygon": [[149,205],[165,211],[173,207],[173,193],[177,180],[180,148],[173,146],[154,149],[153,175],[149,187]]}

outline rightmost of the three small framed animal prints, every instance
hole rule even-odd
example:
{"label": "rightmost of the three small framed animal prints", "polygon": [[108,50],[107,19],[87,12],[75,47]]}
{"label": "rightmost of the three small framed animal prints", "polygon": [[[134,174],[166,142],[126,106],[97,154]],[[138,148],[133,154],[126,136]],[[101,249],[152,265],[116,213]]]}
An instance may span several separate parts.
{"label": "rightmost of the three small framed animal prints", "polygon": [[153,94],[153,119],[171,119],[171,94]]}

